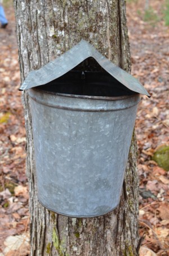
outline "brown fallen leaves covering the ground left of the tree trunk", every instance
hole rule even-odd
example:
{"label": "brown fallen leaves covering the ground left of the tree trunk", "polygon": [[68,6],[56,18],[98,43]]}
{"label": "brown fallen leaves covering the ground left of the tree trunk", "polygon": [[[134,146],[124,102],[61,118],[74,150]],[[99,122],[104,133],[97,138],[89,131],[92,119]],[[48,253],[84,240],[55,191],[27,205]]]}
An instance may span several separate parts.
{"label": "brown fallen leaves covering the ground left of the tree trunk", "polygon": [[0,46],[0,255],[29,255],[28,184],[25,128],[18,65],[15,16],[1,29]]}

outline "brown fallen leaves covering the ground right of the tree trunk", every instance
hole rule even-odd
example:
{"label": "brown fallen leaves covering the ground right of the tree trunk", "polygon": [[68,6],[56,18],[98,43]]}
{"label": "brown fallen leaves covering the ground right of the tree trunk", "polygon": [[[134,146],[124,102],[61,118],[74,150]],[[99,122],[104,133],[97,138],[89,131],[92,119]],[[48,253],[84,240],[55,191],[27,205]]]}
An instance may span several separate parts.
{"label": "brown fallen leaves covering the ground right of the tree trunk", "polygon": [[[164,1],[150,1],[158,14]],[[143,97],[136,119],[140,176],[140,236],[145,234],[140,255],[169,255],[169,173],[152,159],[154,153],[168,144],[168,28],[162,20],[155,27],[144,23],[137,10],[144,10],[144,1],[128,3],[132,75],[152,95]],[[135,19],[137,17],[137,19]],[[167,159],[167,157],[166,157]]]}

